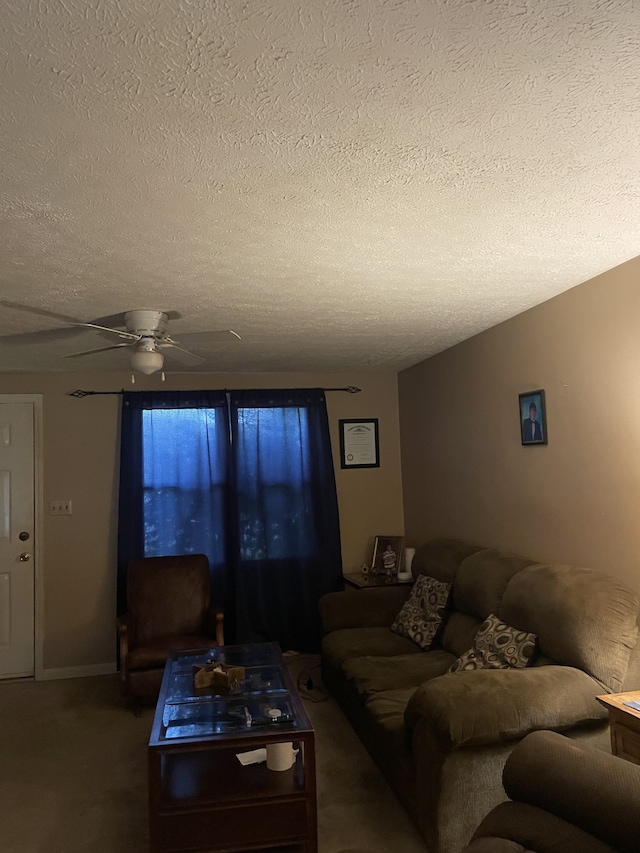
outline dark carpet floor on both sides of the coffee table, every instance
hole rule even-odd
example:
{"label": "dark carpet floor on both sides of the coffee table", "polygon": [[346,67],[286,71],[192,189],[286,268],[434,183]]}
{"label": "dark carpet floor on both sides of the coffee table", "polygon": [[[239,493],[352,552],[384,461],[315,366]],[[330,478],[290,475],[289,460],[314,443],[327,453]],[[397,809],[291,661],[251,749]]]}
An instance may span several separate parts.
{"label": "dark carpet floor on both sides of the coffee table", "polygon": [[[357,847],[425,853],[323,691],[317,659],[288,661],[316,732],[320,853]],[[147,851],[152,718],[151,708],[136,717],[123,707],[116,676],[0,683],[0,851]]]}

